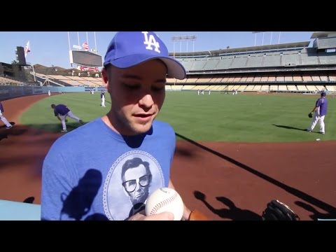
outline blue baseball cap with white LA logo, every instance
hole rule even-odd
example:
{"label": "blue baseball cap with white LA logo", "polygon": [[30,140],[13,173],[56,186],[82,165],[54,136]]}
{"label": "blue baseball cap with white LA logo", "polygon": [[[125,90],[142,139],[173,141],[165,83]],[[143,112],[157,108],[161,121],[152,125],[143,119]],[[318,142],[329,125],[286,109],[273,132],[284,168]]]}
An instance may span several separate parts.
{"label": "blue baseball cap with white LA logo", "polygon": [[104,67],[128,68],[150,59],[161,59],[170,78],[186,78],[186,69],[169,56],[167,46],[153,31],[118,31],[107,48]]}

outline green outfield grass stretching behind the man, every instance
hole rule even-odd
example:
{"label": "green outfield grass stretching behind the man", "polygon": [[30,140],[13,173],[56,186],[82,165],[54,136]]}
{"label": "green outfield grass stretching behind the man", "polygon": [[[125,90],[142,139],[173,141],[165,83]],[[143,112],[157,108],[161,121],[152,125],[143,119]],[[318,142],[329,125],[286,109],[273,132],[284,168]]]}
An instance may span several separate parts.
{"label": "green outfield grass stretching behind the man", "polygon": [[[286,142],[336,140],[336,98],[327,95],[328,115],[325,135],[305,132],[311,120],[307,114],[318,95],[220,94],[207,92],[167,92],[159,120],[176,133],[194,141]],[[106,108],[100,106],[100,94],[59,94],[37,102],[20,118],[31,127],[59,132],[61,124],[50,104],[66,104],[78,117],[88,122],[109,111],[111,99],[106,95]],[[68,130],[78,123],[68,119]],[[318,132],[318,125],[314,131]]]}

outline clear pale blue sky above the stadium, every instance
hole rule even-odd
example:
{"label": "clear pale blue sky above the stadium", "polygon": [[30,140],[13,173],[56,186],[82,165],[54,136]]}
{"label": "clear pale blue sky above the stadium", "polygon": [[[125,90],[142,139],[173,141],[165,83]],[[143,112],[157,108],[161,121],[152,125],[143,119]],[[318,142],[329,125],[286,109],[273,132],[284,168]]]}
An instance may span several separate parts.
{"label": "clear pale blue sky above the stadium", "polygon": [[[169,52],[197,52],[230,48],[243,48],[254,45],[293,43],[311,41],[313,31],[155,31],[165,42]],[[69,36],[68,36],[69,34]],[[97,49],[104,55],[116,31],[0,31],[0,62],[10,64],[15,60],[17,46],[30,43],[26,61],[29,64],[60,66],[70,69],[69,50],[73,45],[87,42],[90,49]],[[195,41],[173,41],[174,36],[196,36]],[[69,43],[70,42],[70,43]],[[69,49],[70,45],[70,49]]]}

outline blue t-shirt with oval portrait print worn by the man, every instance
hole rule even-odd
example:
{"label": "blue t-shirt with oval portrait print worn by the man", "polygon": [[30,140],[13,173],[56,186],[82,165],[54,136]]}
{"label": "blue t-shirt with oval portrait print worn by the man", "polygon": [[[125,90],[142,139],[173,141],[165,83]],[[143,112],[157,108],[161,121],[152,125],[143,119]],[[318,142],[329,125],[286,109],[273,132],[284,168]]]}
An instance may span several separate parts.
{"label": "blue t-shirt with oval portrait print worn by the man", "polygon": [[158,120],[135,137],[102,118],[60,137],[43,162],[41,219],[127,219],[168,186],[175,144],[172,127]]}

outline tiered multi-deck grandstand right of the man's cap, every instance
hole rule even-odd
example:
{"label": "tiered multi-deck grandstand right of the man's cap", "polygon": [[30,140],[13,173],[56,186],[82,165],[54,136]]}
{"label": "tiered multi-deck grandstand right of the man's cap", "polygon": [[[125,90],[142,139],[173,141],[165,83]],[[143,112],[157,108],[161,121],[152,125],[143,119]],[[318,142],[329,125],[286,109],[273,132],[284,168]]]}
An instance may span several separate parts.
{"label": "tiered multi-deck grandstand right of the man's cap", "polygon": [[316,31],[297,43],[170,53],[187,78],[167,78],[166,90],[238,92],[336,91],[336,31]]}

